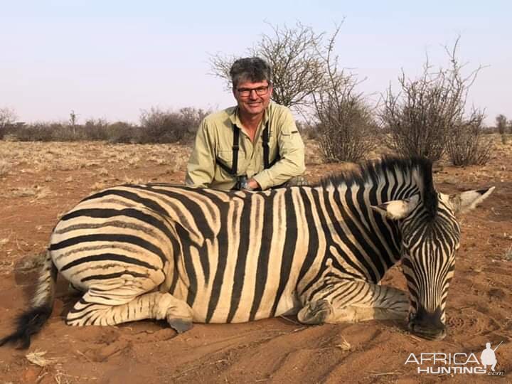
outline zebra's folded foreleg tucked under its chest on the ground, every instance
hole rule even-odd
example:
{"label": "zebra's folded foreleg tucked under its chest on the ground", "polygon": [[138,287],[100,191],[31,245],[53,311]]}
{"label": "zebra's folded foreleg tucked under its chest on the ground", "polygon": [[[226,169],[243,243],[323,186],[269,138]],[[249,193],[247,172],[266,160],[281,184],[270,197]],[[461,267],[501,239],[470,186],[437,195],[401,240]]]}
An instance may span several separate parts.
{"label": "zebra's folded foreleg tucked under its chest on the ground", "polygon": [[304,324],[358,323],[406,319],[408,311],[409,299],[400,289],[366,282],[343,282],[316,292],[297,318]]}

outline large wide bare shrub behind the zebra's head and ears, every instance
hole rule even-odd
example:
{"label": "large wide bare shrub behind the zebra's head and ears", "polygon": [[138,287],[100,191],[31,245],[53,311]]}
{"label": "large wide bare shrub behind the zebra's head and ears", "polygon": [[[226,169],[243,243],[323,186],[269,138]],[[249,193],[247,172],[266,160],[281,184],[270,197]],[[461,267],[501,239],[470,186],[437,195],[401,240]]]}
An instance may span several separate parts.
{"label": "large wide bare shrub behind the zebra's head and ears", "polygon": [[[467,93],[481,69],[479,67],[463,77],[463,65],[456,57],[458,43],[459,39],[452,50],[445,48],[449,68],[434,70],[427,58],[419,78],[406,78],[402,71],[398,78],[401,92],[388,89],[380,120],[389,133],[388,145],[398,154],[423,156],[435,161],[444,154],[449,138],[452,146],[457,145],[454,142],[457,136],[452,131],[466,127],[460,122],[468,120],[464,118]],[[461,140],[460,145],[464,148],[466,143]]]}

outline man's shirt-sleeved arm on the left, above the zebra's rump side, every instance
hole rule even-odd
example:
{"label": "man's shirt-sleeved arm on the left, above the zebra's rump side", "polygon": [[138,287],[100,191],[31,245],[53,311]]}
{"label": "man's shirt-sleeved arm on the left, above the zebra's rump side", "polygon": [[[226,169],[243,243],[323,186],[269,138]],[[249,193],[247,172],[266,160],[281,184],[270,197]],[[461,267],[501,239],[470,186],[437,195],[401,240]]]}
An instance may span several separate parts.
{"label": "man's shirt-sleeved arm on the left, above the zebra's rump side", "polygon": [[206,119],[201,122],[196,141],[188,159],[185,184],[187,186],[208,187],[215,176],[215,144]]}

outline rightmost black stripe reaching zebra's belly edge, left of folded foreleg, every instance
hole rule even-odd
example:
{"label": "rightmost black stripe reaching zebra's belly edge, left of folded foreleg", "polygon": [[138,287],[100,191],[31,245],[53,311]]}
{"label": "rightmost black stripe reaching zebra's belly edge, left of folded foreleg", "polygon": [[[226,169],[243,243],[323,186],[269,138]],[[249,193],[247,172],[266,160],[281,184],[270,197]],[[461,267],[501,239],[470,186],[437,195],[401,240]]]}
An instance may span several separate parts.
{"label": "rightmost black stripe reaching zebra's belly edge, left of folded foreleg", "polygon": [[[284,247],[282,252],[281,270],[279,272],[279,286],[274,297],[271,314],[274,315],[277,310],[277,304],[281,299],[282,293],[287,286],[292,264],[295,255],[295,247],[297,247],[297,214],[295,213],[294,201],[292,196],[293,189],[288,188],[284,193],[284,215],[286,215],[286,235],[284,238]],[[277,209],[279,209],[278,207]],[[282,220],[281,220],[282,222]],[[279,223],[281,223],[279,222]]]}

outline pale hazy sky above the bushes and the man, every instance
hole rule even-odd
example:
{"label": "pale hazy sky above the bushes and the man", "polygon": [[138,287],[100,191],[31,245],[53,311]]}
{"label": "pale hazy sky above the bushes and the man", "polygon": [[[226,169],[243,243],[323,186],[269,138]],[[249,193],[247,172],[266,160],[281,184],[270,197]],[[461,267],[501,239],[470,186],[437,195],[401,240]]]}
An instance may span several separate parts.
{"label": "pale hazy sky above the bushes and the man", "polygon": [[19,121],[138,122],[142,110],[234,104],[211,75],[217,53],[243,56],[271,25],[332,33],[335,53],[370,101],[460,36],[464,71],[480,65],[468,103],[512,119],[512,1],[0,0],[0,108]]}

